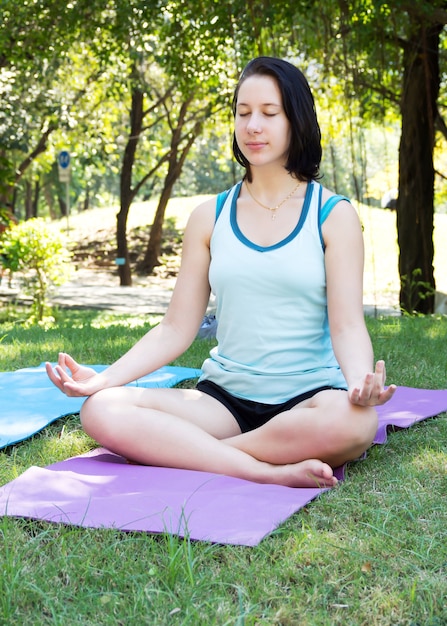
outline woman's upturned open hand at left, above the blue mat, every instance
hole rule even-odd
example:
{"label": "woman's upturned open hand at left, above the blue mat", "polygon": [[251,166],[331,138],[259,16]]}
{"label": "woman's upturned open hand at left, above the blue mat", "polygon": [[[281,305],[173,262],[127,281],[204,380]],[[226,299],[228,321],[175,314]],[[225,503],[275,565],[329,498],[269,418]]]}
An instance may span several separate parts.
{"label": "woman's upturned open hand at left, above the blue mat", "polygon": [[104,387],[104,382],[94,369],[79,365],[65,352],[59,353],[54,368],[51,363],[45,363],[45,368],[51,382],[67,396],[91,396]]}

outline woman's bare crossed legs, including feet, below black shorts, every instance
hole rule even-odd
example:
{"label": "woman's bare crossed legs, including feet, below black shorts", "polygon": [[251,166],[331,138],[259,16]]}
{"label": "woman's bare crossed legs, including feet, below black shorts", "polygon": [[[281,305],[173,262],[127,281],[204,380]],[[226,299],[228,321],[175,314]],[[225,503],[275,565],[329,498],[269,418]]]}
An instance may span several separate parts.
{"label": "woman's bare crossed legs, including feet, below black shorts", "polygon": [[376,432],[374,409],[355,409],[346,392],[325,391],[241,433],[231,413],[198,390],[119,387],[88,398],[81,420],[98,443],[143,465],[332,487],[332,467],[358,457]]}

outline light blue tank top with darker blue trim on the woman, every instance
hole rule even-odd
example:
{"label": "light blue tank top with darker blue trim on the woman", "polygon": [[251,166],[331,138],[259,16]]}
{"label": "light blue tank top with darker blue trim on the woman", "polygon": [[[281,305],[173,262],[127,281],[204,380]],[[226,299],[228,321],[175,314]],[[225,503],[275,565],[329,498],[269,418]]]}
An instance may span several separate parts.
{"label": "light blue tank top with darker blue trim on the woman", "polygon": [[202,366],[201,380],[265,404],[326,385],[346,388],[329,334],[321,234],[342,197],[321,207],[321,185],[309,183],[296,227],[262,247],[238,227],[240,188],[238,183],[227,194],[211,236],[218,345]]}

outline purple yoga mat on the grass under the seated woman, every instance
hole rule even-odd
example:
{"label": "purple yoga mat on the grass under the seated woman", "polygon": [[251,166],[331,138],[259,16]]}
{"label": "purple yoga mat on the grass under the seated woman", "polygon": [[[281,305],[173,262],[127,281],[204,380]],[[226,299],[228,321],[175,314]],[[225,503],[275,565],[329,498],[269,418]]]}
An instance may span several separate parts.
{"label": "purple yoga mat on the grass under the seated woman", "polygon": [[[406,428],[446,410],[447,390],[399,387],[379,407],[376,443],[386,441],[388,426]],[[343,469],[337,470],[340,478]],[[129,465],[100,448],[31,467],[0,488],[0,514],[253,546],[324,491]]]}

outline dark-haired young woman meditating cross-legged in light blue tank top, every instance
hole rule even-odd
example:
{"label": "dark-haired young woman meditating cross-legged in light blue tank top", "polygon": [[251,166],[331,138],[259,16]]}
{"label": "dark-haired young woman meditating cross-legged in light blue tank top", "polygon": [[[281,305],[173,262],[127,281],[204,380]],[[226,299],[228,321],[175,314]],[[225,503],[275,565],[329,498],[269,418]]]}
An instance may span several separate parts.
{"label": "dark-haired young woman meditating cross-legged in light blue tank top", "polygon": [[[145,464],[292,487],[331,487],[373,441],[385,365],[362,305],[363,241],[351,204],[316,181],[320,129],[303,74],[260,57],[234,96],[243,181],[190,216],[168,311],[100,374],[68,354],[47,371],[89,396],[85,431]],[[221,210],[220,210],[221,209]],[[124,387],[188,348],[217,299],[218,345],[196,389]]]}

